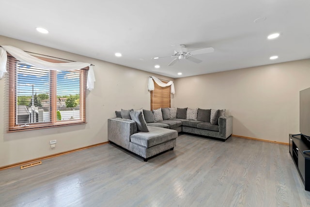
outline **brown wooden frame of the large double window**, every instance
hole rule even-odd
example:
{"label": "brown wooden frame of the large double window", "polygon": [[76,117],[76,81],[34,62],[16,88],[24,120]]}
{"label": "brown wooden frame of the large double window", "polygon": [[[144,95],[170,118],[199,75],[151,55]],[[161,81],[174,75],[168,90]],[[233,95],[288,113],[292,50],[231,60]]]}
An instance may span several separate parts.
{"label": "brown wooden frame of the large double window", "polygon": [[[16,92],[16,74],[17,68],[16,63],[19,62],[15,57],[8,54],[8,61],[7,61],[7,76],[8,76],[8,88],[9,92],[7,93],[8,96],[8,105],[9,105],[9,124],[7,132],[14,132],[14,131],[24,131],[24,130],[33,130],[33,129],[40,129],[40,128],[50,128],[50,127],[62,127],[62,126],[71,126],[71,125],[79,125],[79,124],[86,124],[86,85],[87,85],[87,72],[89,67],[85,67],[79,70],[72,70],[75,72],[80,73],[80,101],[79,101],[79,113],[80,119],[77,120],[57,120],[57,71],[50,70],[50,80],[49,80],[49,104],[50,104],[50,111],[49,111],[49,122],[40,122],[40,123],[31,123],[23,126],[22,124],[16,124],[17,115],[16,115],[16,107],[17,107],[17,92]],[[51,63],[65,63],[63,61],[58,61],[54,59],[44,58],[44,57],[37,57],[41,60],[51,62]]]}

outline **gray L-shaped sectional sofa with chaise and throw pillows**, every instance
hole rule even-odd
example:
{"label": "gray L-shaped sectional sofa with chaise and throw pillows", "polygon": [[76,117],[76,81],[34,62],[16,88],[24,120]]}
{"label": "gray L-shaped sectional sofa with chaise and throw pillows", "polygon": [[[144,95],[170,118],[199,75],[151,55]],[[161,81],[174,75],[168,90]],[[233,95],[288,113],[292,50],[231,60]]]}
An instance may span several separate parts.
{"label": "gray L-shaped sectional sofa with chaise and throw pillows", "polygon": [[164,108],[115,111],[108,119],[108,140],[144,161],[173,150],[178,132],[208,136],[226,141],[233,133],[233,116],[225,110]]}

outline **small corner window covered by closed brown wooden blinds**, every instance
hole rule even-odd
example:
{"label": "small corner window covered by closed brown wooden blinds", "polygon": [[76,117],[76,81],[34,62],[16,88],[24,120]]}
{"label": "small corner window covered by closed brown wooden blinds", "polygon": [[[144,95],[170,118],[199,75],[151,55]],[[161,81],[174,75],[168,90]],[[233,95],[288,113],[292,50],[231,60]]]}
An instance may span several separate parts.
{"label": "small corner window covered by closed brown wooden blinds", "polygon": [[[167,83],[167,81],[165,83]],[[154,81],[154,91],[151,91],[151,110],[159,108],[168,108],[171,106],[170,90],[171,86],[160,87]]]}

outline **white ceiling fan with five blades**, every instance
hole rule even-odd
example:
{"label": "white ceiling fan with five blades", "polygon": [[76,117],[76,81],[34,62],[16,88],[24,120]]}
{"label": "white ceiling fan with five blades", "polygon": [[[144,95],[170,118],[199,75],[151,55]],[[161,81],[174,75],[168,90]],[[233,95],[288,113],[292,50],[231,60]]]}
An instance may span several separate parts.
{"label": "white ceiling fan with five blades", "polygon": [[171,57],[174,58],[168,66],[171,66],[175,64],[177,61],[185,59],[194,63],[201,63],[202,60],[199,60],[197,58],[192,57],[192,55],[198,55],[198,54],[204,54],[204,53],[210,53],[214,52],[214,48],[202,48],[202,49],[196,49],[192,51],[187,51],[187,48],[185,45],[179,45],[178,51],[174,50],[174,54],[171,56],[165,56],[165,57],[155,57],[152,59],[159,59],[159,58],[167,58]]}

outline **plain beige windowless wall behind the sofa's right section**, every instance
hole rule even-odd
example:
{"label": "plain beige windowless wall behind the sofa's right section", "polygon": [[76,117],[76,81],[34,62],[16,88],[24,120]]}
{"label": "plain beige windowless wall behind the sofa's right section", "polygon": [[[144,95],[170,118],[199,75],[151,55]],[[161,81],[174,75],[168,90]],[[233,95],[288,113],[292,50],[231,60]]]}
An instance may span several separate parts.
{"label": "plain beige windowless wall behind the sofa's right section", "polygon": [[288,143],[299,133],[299,91],[309,87],[307,59],[176,79],[174,103],[227,109],[233,134]]}

